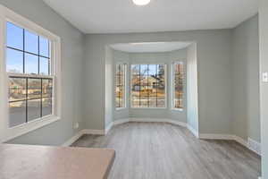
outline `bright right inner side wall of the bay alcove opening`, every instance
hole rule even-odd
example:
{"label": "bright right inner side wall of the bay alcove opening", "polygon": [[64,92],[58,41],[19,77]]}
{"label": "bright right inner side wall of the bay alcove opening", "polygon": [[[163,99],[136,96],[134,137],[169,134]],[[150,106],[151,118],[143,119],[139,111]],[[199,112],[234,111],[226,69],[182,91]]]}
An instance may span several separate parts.
{"label": "bright right inner side wall of the bay alcove opening", "polygon": [[187,124],[196,132],[199,132],[196,43],[188,47],[187,54]]}

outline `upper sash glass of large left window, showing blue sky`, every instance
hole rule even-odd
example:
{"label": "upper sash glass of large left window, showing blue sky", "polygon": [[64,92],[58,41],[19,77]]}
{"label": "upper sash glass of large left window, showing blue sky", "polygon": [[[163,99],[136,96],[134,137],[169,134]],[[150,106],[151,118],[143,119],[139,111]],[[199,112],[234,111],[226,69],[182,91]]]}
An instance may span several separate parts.
{"label": "upper sash glass of large left window, showing blue sky", "polygon": [[50,75],[50,41],[6,22],[6,72]]}

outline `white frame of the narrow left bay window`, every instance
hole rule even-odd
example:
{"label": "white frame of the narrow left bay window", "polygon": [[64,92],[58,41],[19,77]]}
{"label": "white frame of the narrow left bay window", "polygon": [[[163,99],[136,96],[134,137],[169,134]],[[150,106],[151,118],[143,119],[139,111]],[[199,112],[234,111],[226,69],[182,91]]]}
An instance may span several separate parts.
{"label": "white frame of the narrow left bay window", "polygon": [[[116,78],[117,78],[117,75],[116,75],[116,66],[119,65],[119,64],[123,64],[124,65],[124,107],[116,107]],[[114,107],[115,107],[115,110],[116,111],[120,111],[122,109],[126,109],[127,108],[127,73],[128,73],[128,64],[126,63],[116,63],[115,64],[115,71],[114,71]]]}

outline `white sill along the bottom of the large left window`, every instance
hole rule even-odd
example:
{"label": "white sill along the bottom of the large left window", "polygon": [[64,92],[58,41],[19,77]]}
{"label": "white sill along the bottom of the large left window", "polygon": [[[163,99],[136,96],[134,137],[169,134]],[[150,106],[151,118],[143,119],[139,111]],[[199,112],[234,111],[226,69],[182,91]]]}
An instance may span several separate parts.
{"label": "white sill along the bottom of the large left window", "polygon": [[[41,127],[44,127],[48,124],[52,124],[56,121],[59,121],[61,118],[59,116],[55,115],[48,115],[43,118],[39,118],[37,120],[31,121],[27,124],[21,124],[18,126],[15,126],[13,128],[8,128],[5,133],[4,141],[10,141],[14,138],[17,138],[23,134],[33,132]],[[3,141],[3,142],[4,142]]]}

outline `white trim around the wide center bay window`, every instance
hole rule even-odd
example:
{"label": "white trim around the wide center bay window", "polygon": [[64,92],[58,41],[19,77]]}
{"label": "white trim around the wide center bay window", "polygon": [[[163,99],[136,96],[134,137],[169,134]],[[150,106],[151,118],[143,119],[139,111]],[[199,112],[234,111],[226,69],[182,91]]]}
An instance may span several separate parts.
{"label": "white trim around the wide center bay window", "polygon": [[[161,63],[136,63],[136,64],[161,64]],[[163,63],[162,63],[163,64]],[[167,77],[168,77],[168,75],[167,75],[167,67],[168,67],[168,64],[163,64],[164,65],[164,98],[165,98],[165,100],[164,100],[164,107],[132,107],[132,83],[131,83],[131,81],[132,81],[132,70],[131,70],[131,66],[132,65],[135,65],[135,64],[130,64],[130,108],[131,109],[167,109],[168,107],[167,107],[167,100],[168,100],[168,94],[167,94],[167,91],[168,91],[168,87],[167,87],[167,81],[168,81],[168,79],[167,79]]]}

